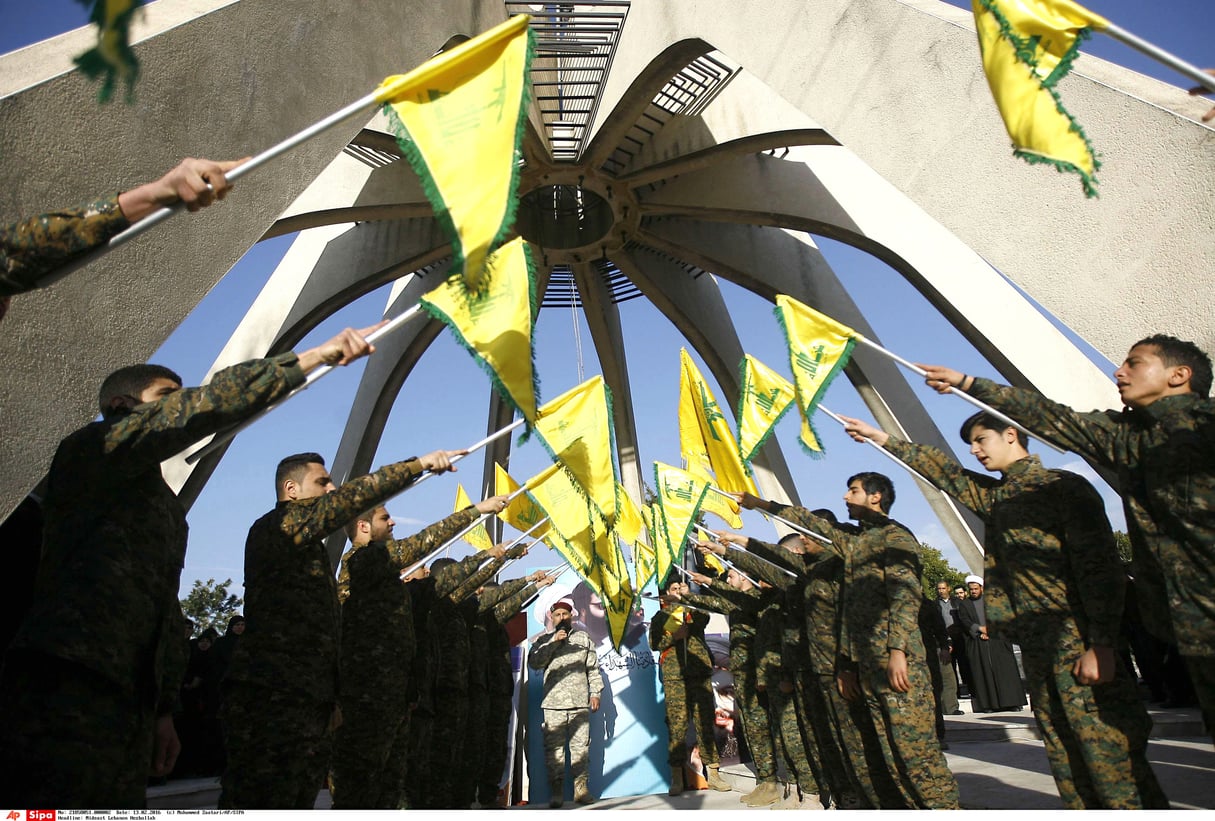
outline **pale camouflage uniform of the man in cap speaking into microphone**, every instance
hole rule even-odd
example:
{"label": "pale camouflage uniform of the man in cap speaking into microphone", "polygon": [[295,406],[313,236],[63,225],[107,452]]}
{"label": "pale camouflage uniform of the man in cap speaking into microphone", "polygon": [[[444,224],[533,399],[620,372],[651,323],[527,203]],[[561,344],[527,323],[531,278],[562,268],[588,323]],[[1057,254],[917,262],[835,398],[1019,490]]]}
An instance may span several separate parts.
{"label": "pale camouflage uniform of the man in cap speaking into microphone", "polygon": [[590,751],[590,700],[603,693],[599,657],[586,630],[572,628],[565,641],[547,633],[527,651],[527,667],[544,670],[544,764],[553,798],[565,794],[565,744],[570,744],[570,775],[587,778]]}

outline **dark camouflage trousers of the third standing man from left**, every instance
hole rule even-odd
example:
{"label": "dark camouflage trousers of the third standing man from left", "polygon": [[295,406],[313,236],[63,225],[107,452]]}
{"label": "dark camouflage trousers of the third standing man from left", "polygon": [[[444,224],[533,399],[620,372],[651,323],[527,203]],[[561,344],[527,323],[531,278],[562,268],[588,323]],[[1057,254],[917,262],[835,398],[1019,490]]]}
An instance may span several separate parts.
{"label": "dark camouflage trousers of the third standing man from left", "polygon": [[[408,730],[405,689],[343,696],[333,738],[333,809],[395,810],[401,804],[401,758]],[[394,754],[396,749],[396,754]]]}

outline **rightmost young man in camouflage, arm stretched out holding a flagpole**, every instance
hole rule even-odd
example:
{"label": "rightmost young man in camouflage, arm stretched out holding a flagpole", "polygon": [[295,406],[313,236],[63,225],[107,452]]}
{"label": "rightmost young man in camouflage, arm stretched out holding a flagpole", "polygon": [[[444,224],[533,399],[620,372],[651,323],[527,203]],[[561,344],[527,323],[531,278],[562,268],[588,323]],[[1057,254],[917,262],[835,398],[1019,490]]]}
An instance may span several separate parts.
{"label": "rightmost young man in camouflage, arm stretched out holding a flagpole", "polygon": [[940,366],[926,381],[957,387],[1047,440],[1115,471],[1145,625],[1175,639],[1215,736],[1215,402],[1210,357],[1155,334],[1114,370],[1125,408],[1078,413],[1035,391]]}

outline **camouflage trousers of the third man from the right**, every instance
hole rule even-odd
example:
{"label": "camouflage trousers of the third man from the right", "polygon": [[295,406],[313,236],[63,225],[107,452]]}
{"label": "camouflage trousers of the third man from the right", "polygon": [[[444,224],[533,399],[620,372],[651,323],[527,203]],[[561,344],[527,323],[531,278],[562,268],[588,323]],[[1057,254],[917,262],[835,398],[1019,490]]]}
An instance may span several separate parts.
{"label": "camouflage trousers of the third man from the right", "polygon": [[910,690],[895,692],[885,664],[860,672],[861,697],[886,768],[885,772],[875,771],[872,764],[869,768],[878,808],[956,810],[957,781],[937,738],[937,710],[925,659],[908,658],[908,678]]}

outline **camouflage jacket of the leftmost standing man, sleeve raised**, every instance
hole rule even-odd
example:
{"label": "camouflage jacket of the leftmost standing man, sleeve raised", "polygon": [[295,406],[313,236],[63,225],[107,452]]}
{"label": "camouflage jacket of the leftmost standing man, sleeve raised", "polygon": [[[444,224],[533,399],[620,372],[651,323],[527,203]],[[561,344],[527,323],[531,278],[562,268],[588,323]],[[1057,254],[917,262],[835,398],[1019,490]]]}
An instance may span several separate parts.
{"label": "camouflage jacket of the leftmost standing man, sleeve raised", "polygon": [[245,362],[64,438],[47,480],[34,602],[12,646],[83,664],[168,709],[186,663],[186,511],[160,463],[303,381],[294,353]]}

